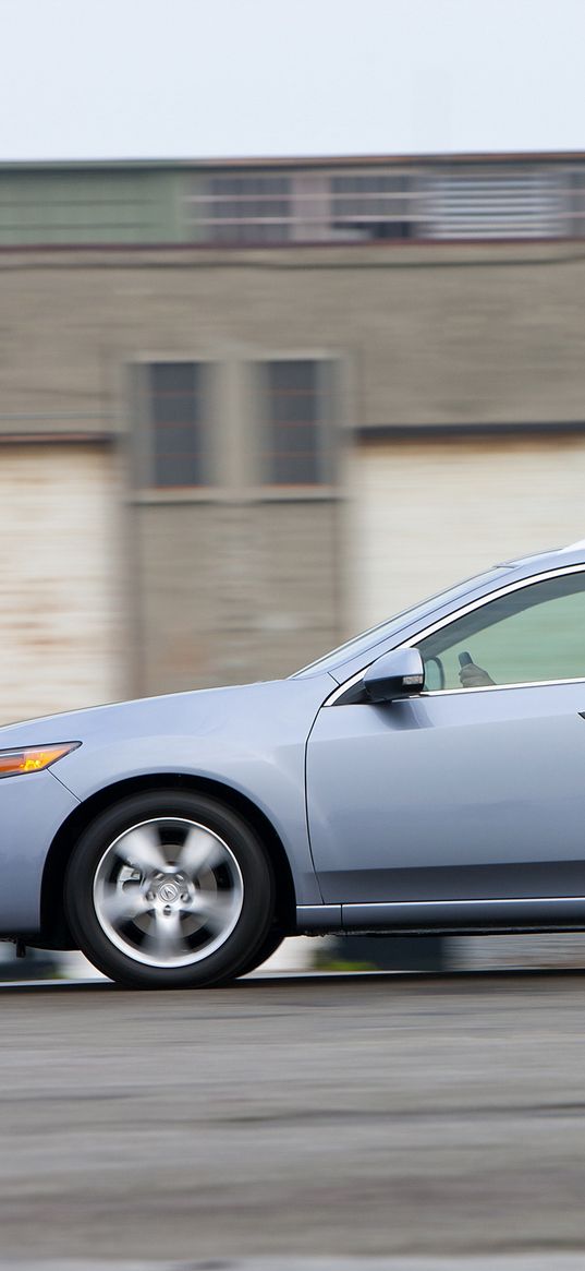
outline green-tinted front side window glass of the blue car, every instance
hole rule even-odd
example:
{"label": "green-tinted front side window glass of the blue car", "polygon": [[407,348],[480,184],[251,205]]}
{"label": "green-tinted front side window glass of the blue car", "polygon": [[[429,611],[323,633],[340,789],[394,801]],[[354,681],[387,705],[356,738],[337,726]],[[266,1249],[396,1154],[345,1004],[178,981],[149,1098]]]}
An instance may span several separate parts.
{"label": "green-tinted front side window glass of the blue car", "polygon": [[463,662],[486,684],[585,679],[585,573],[530,583],[419,642],[425,689],[461,689]]}

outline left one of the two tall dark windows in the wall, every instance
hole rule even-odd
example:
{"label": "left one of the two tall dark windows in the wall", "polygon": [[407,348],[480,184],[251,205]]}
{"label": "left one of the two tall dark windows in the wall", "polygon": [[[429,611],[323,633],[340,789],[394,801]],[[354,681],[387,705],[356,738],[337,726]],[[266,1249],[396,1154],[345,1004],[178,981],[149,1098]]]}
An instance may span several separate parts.
{"label": "left one of the two tall dark windows in the wall", "polygon": [[207,374],[208,367],[195,362],[152,362],[147,367],[146,484],[164,489],[211,484]]}

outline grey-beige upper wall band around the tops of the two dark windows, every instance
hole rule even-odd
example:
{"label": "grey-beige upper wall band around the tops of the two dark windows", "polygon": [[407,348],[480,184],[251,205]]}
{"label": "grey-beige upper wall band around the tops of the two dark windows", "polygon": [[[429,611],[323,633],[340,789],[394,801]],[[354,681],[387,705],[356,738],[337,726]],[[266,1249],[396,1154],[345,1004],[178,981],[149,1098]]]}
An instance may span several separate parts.
{"label": "grey-beige upper wall band around the tops of the two dark windows", "polygon": [[140,352],[324,348],[348,357],[362,425],[584,414],[574,244],[29,253],[0,273],[0,413],[119,409]]}

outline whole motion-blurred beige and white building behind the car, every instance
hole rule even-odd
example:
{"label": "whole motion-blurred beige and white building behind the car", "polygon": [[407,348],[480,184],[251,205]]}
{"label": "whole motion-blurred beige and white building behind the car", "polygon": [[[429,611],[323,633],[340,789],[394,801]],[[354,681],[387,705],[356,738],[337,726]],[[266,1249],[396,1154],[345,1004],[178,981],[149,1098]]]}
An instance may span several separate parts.
{"label": "whole motion-blurred beige and white building behind the car", "polygon": [[0,165],[0,716],[582,538],[585,156]]}

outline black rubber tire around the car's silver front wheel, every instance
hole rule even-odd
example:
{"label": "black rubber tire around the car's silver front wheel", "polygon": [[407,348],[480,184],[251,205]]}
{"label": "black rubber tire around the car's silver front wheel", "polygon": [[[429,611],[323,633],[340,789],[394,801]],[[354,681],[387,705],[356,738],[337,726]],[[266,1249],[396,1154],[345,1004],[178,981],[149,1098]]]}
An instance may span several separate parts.
{"label": "black rubber tire around the car's silver front wheel", "polygon": [[[218,834],[233,853],[244,882],[242,911],[233,932],[207,958],[184,967],[147,966],[124,955],[102,928],[93,901],[95,872],[108,846],[129,826],[157,816],[181,816]],[[67,868],[65,906],[80,949],[112,980],[131,988],[203,988],[233,979],[265,943],[274,911],[274,876],[256,834],[231,808],[203,794],[148,791],[128,796],[88,826]]]}

